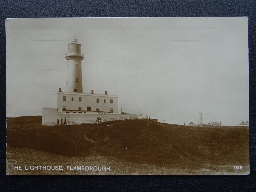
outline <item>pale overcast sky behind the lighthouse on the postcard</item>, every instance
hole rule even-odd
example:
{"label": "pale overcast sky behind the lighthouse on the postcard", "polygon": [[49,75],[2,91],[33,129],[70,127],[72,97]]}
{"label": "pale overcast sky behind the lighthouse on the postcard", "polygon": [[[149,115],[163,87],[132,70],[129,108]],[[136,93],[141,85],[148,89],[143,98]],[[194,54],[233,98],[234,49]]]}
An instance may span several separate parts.
{"label": "pale overcast sky behind the lighthouse on the postcard", "polygon": [[36,18],[6,21],[7,117],[42,115],[65,89],[68,43],[82,44],[83,92],[166,123],[249,119],[248,19]]}

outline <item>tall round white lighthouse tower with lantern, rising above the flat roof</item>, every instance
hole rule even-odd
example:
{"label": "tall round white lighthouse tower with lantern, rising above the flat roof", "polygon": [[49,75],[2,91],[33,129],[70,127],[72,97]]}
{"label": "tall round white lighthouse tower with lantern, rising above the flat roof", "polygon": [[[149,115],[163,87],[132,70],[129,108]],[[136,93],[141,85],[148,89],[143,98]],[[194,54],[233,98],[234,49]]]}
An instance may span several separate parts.
{"label": "tall round white lighthouse tower with lantern, rising above the flat roof", "polygon": [[81,44],[77,39],[72,39],[68,44],[68,52],[66,56],[67,62],[67,82],[66,92],[83,92],[82,85],[82,65],[81,61],[84,59],[83,53],[81,53]]}

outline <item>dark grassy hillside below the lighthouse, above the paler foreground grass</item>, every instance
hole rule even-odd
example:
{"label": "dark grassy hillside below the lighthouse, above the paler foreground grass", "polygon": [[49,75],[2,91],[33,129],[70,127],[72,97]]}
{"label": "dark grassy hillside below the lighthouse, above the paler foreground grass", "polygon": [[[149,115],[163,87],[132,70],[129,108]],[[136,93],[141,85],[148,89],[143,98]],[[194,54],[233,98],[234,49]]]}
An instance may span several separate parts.
{"label": "dark grassy hillside below the lighthouse, above the paler foreground grass", "polygon": [[[186,170],[197,170],[191,174],[249,172],[248,127],[188,127],[143,119],[101,124],[7,128],[7,145],[10,147],[9,157],[12,160],[15,158],[12,153],[14,148],[29,148],[40,151],[42,155],[55,154],[69,160],[114,158],[116,163],[120,161],[136,164],[137,167],[141,165],[183,170],[179,174],[188,173]],[[25,149],[20,150],[24,156],[31,154],[31,151],[25,153]],[[15,151],[17,153],[17,149]],[[234,170],[235,165],[241,165],[244,169]],[[167,174],[163,171],[160,174],[165,173]]]}

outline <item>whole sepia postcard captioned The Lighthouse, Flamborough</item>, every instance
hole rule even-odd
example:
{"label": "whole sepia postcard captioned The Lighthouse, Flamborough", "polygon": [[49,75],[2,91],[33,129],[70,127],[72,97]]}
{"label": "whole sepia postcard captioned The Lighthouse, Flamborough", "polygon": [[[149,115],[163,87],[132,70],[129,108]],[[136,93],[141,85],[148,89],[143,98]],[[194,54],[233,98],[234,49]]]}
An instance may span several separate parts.
{"label": "whole sepia postcard captioned The Lighthouse, Flamborough", "polygon": [[6,19],[7,175],[248,175],[248,17]]}

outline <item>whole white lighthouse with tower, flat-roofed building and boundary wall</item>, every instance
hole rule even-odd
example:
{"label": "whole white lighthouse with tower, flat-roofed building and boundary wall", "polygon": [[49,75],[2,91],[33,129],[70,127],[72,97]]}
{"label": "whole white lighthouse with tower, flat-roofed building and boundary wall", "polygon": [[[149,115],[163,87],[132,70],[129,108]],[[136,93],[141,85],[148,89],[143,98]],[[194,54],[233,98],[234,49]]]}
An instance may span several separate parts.
{"label": "whole white lighthouse with tower, flat-roofed building and boundary wall", "polygon": [[66,87],[59,88],[58,92],[52,94],[52,107],[42,108],[42,124],[55,125],[57,119],[66,118],[68,122],[85,122],[101,119],[130,118],[137,114],[118,114],[118,96],[104,94],[83,93],[81,44],[72,39],[68,44],[67,79]]}

